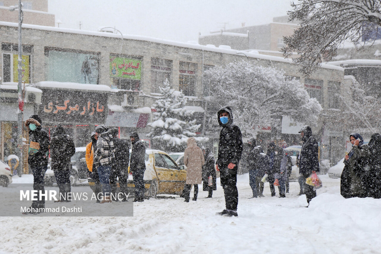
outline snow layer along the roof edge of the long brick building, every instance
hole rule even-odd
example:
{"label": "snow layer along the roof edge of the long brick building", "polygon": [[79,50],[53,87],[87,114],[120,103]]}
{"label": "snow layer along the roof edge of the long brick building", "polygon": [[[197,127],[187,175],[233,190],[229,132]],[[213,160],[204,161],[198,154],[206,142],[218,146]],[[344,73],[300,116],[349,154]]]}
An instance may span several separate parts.
{"label": "snow layer along the roof edge of the long brick building", "polygon": [[[11,26],[11,27],[18,27],[18,23],[11,23],[11,22],[4,22],[0,21],[0,26]],[[234,50],[234,49],[227,49],[227,48],[220,48],[220,47],[211,47],[211,46],[205,46],[200,44],[192,44],[192,43],[185,43],[185,42],[175,42],[172,40],[163,40],[163,39],[157,39],[154,37],[148,37],[148,36],[142,36],[142,35],[131,35],[131,34],[113,34],[113,33],[107,33],[107,32],[96,32],[96,31],[85,31],[80,29],[69,29],[69,28],[62,28],[62,27],[51,27],[51,26],[38,26],[38,25],[31,25],[31,24],[22,24],[23,28],[29,28],[29,29],[37,29],[37,30],[44,30],[44,31],[54,31],[54,32],[63,32],[63,33],[72,33],[72,34],[82,34],[82,35],[92,35],[92,36],[100,36],[100,37],[114,37],[114,38],[123,38],[123,39],[130,39],[130,40],[141,40],[141,41],[147,41],[147,42],[155,42],[155,43],[161,43],[166,45],[172,45],[177,47],[184,47],[184,48],[193,48],[197,50],[203,50],[203,51],[212,51],[217,53],[225,53],[225,54],[231,54],[231,55],[237,55],[237,53],[245,53],[247,57],[251,58],[257,58],[257,59],[263,59],[263,60],[270,60],[270,61],[277,61],[277,62],[283,62],[283,63],[290,63],[295,64],[292,59],[283,58],[280,56],[269,56],[269,55],[261,55],[256,53],[250,53],[247,51],[240,51],[240,50]],[[321,68],[324,69],[336,69],[339,71],[344,71],[343,68],[337,67],[332,68],[332,65],[322,64]],[[340,69],[338,69],[340,68]]]}

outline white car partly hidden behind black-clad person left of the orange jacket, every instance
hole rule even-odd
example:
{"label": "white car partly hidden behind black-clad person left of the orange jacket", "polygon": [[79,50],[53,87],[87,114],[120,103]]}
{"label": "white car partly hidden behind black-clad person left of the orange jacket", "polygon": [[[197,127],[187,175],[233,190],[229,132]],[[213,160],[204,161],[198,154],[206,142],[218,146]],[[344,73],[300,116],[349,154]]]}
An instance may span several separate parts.
{"label": "white car partly hidden behind black-clad person left of the orange jacket", "polygon": [[[87,181],[87,166],[86,166],[86,147],[76,147],[75,153],[70,162],[70,185],[76,185]],[[56,183],[56,177],[53,170],[51,170],[51,159],[49,159],[48,170],[45,172],[44,184],[45,186],[52,186]]]}

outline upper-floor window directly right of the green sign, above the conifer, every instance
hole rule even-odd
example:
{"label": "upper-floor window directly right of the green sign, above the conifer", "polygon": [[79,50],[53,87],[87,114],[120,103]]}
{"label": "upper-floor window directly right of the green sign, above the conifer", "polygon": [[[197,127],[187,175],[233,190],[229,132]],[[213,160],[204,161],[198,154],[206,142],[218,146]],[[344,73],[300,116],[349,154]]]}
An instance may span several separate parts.
{"label": "upper-floor window directly right of the green sign, above the conifer", "polygon": [[151,93],[159,93],[166,79],[171,80],[172,60],[151,58]]}

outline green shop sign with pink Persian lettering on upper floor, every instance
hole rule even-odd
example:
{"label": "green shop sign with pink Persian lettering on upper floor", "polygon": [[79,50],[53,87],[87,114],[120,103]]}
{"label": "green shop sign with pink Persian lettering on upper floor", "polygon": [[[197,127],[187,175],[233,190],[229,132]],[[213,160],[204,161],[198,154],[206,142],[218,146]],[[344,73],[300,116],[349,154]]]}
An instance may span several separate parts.
{"label": "green shop sign with pink Persian lettering on upper floor", "polygon": [[110,58],[110,76],[127,79],[141,79],[142,61],[112,57]]}

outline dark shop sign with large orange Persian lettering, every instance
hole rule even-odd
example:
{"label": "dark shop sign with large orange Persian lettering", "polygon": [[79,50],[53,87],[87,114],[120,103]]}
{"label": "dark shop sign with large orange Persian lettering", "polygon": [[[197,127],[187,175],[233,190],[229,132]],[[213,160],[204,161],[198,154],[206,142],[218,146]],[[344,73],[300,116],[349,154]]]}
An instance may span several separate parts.
{"label": "dark shop sign with large orange Persian lettering", "polygon": [[107,94],[44,90],[41,117],[53,122],[87,124],[104,123],[107,113]]}

